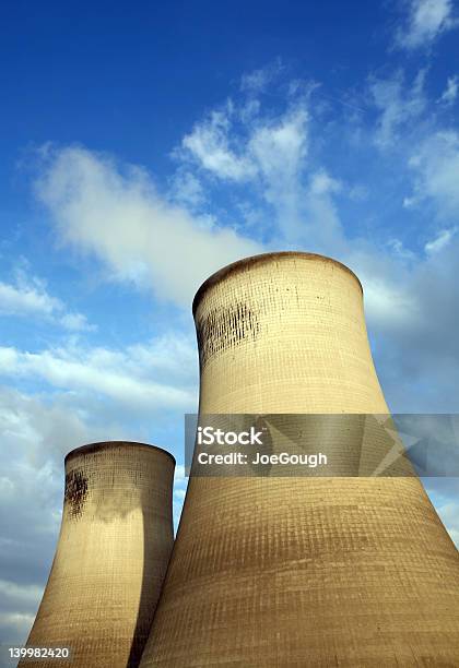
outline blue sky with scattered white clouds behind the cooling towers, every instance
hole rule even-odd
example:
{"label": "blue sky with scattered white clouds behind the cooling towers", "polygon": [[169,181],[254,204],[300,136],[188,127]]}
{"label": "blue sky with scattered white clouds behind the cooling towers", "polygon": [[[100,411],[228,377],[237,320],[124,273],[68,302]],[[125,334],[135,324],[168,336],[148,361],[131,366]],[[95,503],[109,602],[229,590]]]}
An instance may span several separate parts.
{"label": "blue sky with scattered white clouds behind the cooling towers", "polygon": [[[346,263],[391,410],[459,411],[458,28],[450,0],[3,3],[0,640],[39,603],[66,452],[183,462],[190,301],[233,260]],[[428,491],[458,541],[457,480]]]}

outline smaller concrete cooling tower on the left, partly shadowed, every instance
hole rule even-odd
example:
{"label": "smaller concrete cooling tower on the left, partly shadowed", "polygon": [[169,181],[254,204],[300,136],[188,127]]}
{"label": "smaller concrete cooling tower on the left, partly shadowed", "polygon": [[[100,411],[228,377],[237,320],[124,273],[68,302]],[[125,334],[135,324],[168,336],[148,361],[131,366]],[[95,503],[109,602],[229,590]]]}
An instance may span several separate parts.
{"label": "smaller concrete cooling tower on the left, partly shadowed", "polygon": [[24,666],[139,665],[173,547],[174,468],[143,443],[67,455],[59,541],[27,645],[68,646],[72,657]]}

